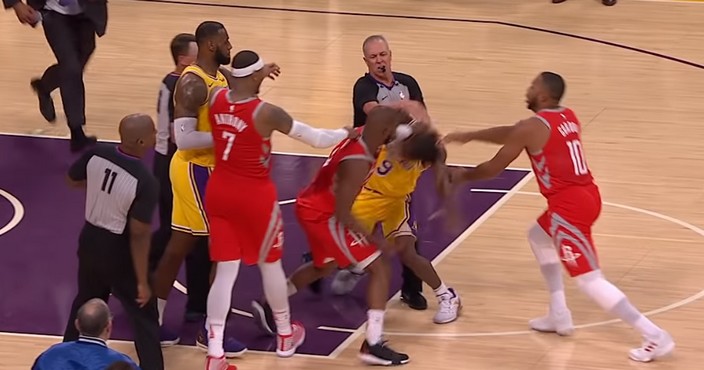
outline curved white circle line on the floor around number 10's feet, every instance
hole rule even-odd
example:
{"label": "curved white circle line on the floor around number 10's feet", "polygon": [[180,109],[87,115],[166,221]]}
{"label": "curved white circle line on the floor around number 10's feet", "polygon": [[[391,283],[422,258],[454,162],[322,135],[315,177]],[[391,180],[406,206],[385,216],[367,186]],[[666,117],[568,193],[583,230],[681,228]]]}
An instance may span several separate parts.
{"label": "curved white circle line on the floor around number 10's feet", "polygon": [[[506,197],[509,195],[533,195],[533,196],[540,196],[540,193],[536,192],[528,192],[528,191],[518,191],[516,187],[514,187],[511,190],[498,190],[498,189],[472,189],[472,192],[477,192],[477,193],[506,193]],[[504,197],[505,198],[505,197]],[[502,198],[501,200],[503,200]],[[686,229],[689,229],[698,235],[704,237],[704,229],[701,229],[697,226],[694,226],[688,222],[678,220],[676,218],[664,215],[662,213],[658,212],[653,212],[649,211],[647,209],[642,209],[642,208],[637,208],[637,207],[631,207],[623,204],[617,204],[617,203],[611,203],[611,202],[603,202],[604,205],[616,207],[616,208],[621,208],[621,209],[626,209],[629,211],[633,212],[639,212],[643,213],[655,218],[659,218],[661,220],[669,221],[674,224],[677,224],[679,226],[682,226]],[[458,238],[459,239],[459,238]],[[674,310],[676,308],[688,305],[696,300],[699,300],[701,298],[704,298],[704,290],[701,290],[700,292],[689,296],[683,300],[680,300],[679,302],[675,302],[673,304],[667,305],[665,307],[660,307],[657,309],[654,309],[652,311],[644,312],[643,315],[645,316],[653,316],[657,314],[661,314],[664,312],[668,312],[671,310]],[[596,326],[605,326],[605,325],[611,325],[611,324],[617,324],[620,323],[620,319],[612,319],[612,320],[606,320],[606,321],[600,321],[600,322],[595,322],[595,323],[588,323],[588,324],[582,324],[582,325],[575,325],[575,329],[585,329],[585,328],[591,328],[591,327],[596,327]],[[321,330],[329,330],[329,331],[339,331],[339,332],[347,332],[347,333],[352,333],[352,336],[359,335],[357,329],[356,331],[351,330],[351,329],[346,329],[346,328],[336,328],[336,327],[329,327],[329,326],[321,326],[318,327],[318,329]],[[385,335],[389,336],[405,336],[405,337],[436,337],[436,338],[467,338],[467,337],[496,337],[496,336],[509,336],[509,335],[526,335],[526,334],[536,334],[536,331],[533,330],[518,330],[518,331],[504,331],[504,332],[478,332],[478,333],[411,333],[411,332],[384,332]]]}

